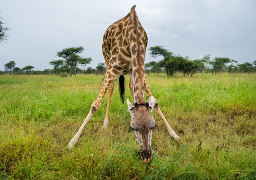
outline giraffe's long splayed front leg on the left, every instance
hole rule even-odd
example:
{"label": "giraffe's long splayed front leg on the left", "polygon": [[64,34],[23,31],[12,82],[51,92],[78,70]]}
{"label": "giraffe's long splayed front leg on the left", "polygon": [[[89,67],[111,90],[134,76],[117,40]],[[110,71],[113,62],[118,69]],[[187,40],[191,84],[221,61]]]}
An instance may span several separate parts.
{"label": "giraffe's long splayed front leg on the left", "polygon": [[107,88],[109,87],[109,85],[111,83],[113,83],[113,81],[114,81],[114,79],[116,77],[117,76],[113,75],[110,70],[107,70],[105,78],[104,78],[103,85],[102,85],[101,90],[100,90],[100,94],[99,94],[98,98],[96,99],[96,101],[93,102],[93,104],[91,106],[91,109],[90,109],[90,112],[87,115],[86,119],[84,120],[82,126],[79,128],[79,130],[76,133],[76,135],[71,139],[70,143],[68,144],[68,148],[69,149],[72,149],[72,147],[78,142],[83,129],[85,128],[85,126],[89,122],[89,120],[91,119],[92,115],[101,106],[101,102],[102,102],[102,99],[103,99],[103,97],[104,97],[104,95],[105,95],[105,93],[107,91]]}

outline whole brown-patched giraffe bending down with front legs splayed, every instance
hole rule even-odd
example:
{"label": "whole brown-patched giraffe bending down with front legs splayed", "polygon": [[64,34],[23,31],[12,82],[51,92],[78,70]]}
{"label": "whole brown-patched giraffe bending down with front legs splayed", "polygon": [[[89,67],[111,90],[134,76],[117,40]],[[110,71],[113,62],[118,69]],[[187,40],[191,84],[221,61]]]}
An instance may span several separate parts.
{"label": "whole brown-patched giraffe bending down with front legs splayed", "polygon": [[[169,134],[179,140],[179,136],[172,130],[161,112],[156,99],[153,97],[146,81],[144,70],[145,51],[148,43],[147,34],[142,27],[134,5],[129,14],[116,21],[108,27],[102,44],[102,53],[106,63],[106,74],[98,98],[93,102],[90,112],[84,120],[77,134],[71,139],[68,147],[71,149],[79,140],[79,137],[89,122],[92,115],[101,106],[102,99],[108,91],[106,115],[102,128],[108,125],[108,115],[111,96],[114,89],[114,80],[119,77],[124,80],[124,74],[130,74],[129,88],[133,96],[133,105],[126,100],[131,114],[131,128],[135,132],[136,140],[139,142],[140,156],[143,162],[148,163],[152,159],[151,139],[152,129],[155,127],[155,120],[151,115],[155,109]],[[123,82],[122,82],[123,83]],[[145,103],[144,92],[149,102]],[[123,96],[122,96],[123,98]],[[123,101],[123,100],[122,100]]]}

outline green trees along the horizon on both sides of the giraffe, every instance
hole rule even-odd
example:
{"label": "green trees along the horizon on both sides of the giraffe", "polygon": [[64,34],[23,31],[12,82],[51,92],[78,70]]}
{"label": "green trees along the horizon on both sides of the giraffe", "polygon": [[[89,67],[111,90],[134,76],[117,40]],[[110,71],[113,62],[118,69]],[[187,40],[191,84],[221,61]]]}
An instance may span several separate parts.
{"label": "green trees along the horizon on both sides of the giraffe", "polygon": [[[226,71],[229,73],[232,72],[256,72],[256,61],[251,63],[243,63],[238,64],[237,61],[232,60],[226,57],[215,57],[211,58],[210,54],[205,55],[202,59],[189,60],[189,58],[182,57],[179,55],[174,55],[167,49],[164,49],[163,46],[154,46],[149,48],[150,55],[153,58],[162,57],[163,59],[155,62],[151,61],[145,64],[146,73],[166,73],[167,76],[172,76],[175,72],[182,72],[184,76],[193,76],[193,74],[197,72],[205,72],[205,73],[218,73],[221,71]],[[80,47],[72,47],[65,48],[56,53],[56,56],[62,58],[60,60],[50,61],[49,65],[53,67],[53,69],[45,69],[44,71],[33,71],[33,66],[26,66],[24,68],[15,67],[16,63],[14,61],[10,61],[5,64],[5,70],[10,72],[12,75],[12,71],[19,74],[49,74],[56,73],[59,75],[60,73],[73,74],[76,76],[77,73],[95,73],[95,74],[104,74],[106,70],[105,63],[99,63],[96,67],[96,70],[92,67],[87,67],[88,64],[91,63],[92,58],[84,58],[79,56],[80,53],[84,51],[82,46]],[[78,67],[80,66],[81,69]],[[3,74],[0,71],[0,74]]]}

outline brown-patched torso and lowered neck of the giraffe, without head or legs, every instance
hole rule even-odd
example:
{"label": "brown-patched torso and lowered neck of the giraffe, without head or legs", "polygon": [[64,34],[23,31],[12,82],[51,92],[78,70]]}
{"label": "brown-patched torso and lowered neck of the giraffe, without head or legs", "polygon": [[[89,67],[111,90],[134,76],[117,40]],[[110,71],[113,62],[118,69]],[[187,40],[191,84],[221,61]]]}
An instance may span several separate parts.
{"label": "brown-patched torso and lowered neck of the giraffe, without head or legs", "polygon": [[144,60],[148,44],[147,34],[142,27],[135,7],[122,19],[106,30],[102,53],[113,76],[130,73],[134,81],[134,103],[144,102]]}

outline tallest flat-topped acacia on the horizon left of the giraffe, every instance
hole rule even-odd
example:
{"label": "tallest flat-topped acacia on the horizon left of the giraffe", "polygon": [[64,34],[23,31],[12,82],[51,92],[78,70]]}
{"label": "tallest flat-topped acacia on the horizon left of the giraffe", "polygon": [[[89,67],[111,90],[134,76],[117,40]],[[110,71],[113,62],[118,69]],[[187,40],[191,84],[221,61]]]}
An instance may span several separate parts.
{"label": "tallest flat-topped acacia on the horizon left of the giraffe", "polygon": [[66,60],[66,63],[70,66],[70,72],[72,76],[73,73],[73,68],[75,68],[75,76],[77,74],[77,64],[79,59],[81,58],[77,54],[82,53],[85,49],[80,46],[80,47],[72,47],[72,48],[65,48],[62,51],[57,52],[57,56],[61,57]]}

